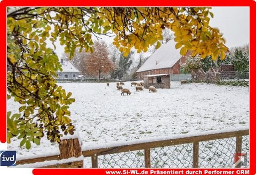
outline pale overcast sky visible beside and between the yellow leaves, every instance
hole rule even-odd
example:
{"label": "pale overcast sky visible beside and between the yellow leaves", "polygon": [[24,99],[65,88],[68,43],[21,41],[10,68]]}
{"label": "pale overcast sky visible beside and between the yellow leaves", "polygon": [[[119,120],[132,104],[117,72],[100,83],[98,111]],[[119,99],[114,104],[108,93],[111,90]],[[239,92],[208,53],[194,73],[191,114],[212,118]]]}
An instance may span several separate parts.
{"label": "pale overcast sky visible beside and between the yellow leaves", "polygon": [[[212,7],[214,18],[210,19],[210,26],[217,27],[226,39],[226,46],[236,47],[249,43],[249,7]],[[107,43],[113,39],[102,37]],[[64,52],[63,46],[56,45],[59,58]]]}

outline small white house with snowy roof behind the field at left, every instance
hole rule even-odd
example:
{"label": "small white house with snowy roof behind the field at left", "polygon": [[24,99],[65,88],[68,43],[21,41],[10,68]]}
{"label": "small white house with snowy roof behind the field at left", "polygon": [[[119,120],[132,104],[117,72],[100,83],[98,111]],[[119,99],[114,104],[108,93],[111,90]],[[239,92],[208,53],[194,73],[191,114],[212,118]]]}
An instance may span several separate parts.
{"label": "small white house with snowy roof behind the field at left", "polygon": [[78,79],[81,72],[69,60],[60,60],[61,72],[57,72],[59,79]]}

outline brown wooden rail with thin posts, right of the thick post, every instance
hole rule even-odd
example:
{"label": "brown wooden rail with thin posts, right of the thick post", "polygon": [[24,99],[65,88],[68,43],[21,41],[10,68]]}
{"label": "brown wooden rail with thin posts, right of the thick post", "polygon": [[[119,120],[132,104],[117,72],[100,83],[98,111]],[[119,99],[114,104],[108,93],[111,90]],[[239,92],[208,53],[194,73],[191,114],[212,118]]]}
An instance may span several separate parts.
{"label": "brown wooden rail with thin posts, right of the thick post", "polygon": [[[92,150],[82,151],[82,154],[84,155],[84,157],[92,157],[92,168],[98,168],[98,156],[100,155],[144,150],[145,168],[150,168],[150,148],[181,145],[181,144],[193,144],[193,168],[198,168],[198,159],[199,159],[198,152],[199,152],[200,141],[209,141],[209,140],[236,137],[235,150],[236,150],[236,153],[241,153],[242,152],[242,136],[246,136],[246,135],[249,135],[248,129],[231,131],[231,132],[221,132],[218,134],[209,134],[209,135],[203,135],[203,136],[201,135],[201,136],[193,136],[193,137],[182,137],[182,138],[175,138],[175,139],[169,139],[169,140],[152,141],[148,143],[92,149]],[[236,167],[237,168],[241,167],[241,164],[238,164]]]}

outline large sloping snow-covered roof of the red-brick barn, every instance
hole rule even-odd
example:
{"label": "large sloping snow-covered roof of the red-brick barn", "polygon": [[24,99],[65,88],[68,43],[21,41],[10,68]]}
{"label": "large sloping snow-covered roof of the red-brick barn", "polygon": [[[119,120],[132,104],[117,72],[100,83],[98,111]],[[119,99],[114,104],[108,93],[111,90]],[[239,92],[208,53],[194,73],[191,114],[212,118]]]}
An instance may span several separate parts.
{"label": "large sloping snow-covered roof of the red-brick barn", "polygon": [[173,39],[162,44],[136,72],[171,68],[181,58],[180,49],[176,49],[175,44]]}

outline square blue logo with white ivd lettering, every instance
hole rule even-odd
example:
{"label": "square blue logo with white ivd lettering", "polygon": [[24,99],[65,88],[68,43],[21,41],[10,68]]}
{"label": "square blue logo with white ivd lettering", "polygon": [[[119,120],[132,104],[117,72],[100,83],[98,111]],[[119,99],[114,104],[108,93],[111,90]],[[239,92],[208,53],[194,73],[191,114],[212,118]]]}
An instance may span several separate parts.
{"label": "square blue logo with white ivd lettering", "polygon": [[0,151],[1,166],[16,165],[16,151]]}

